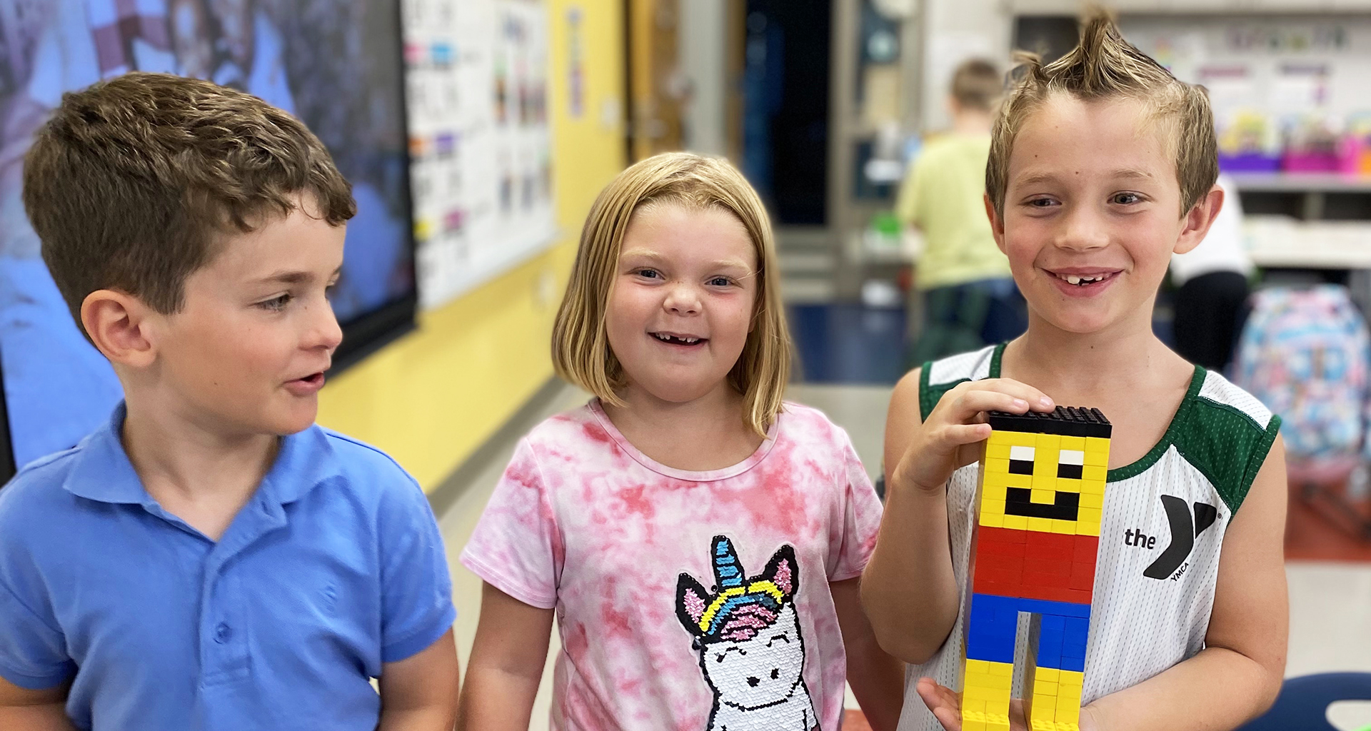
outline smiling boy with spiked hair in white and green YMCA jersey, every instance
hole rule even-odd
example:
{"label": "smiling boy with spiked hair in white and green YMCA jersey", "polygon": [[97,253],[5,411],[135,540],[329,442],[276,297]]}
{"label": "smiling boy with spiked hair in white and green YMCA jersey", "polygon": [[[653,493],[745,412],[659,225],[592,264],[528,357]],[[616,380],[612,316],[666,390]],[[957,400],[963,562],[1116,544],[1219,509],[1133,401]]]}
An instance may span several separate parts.
{"label": "smiling boy with spiked hair in white and green YMCA jersey", "polygon": [[862,597],[882,646],[912,665],[901,731],[960,728],[984,413],[1056,403],[1113,424],[1080,728],[1235,728],[1271,704],[1285,667],[1279,418],[1152,333],[1171,254],[1194,248],[1223,204],[1208,100],[1104,16],[1019,78],[995,122],[986,208],[1028,331],[914,369],[887,420],[887,506]]}

